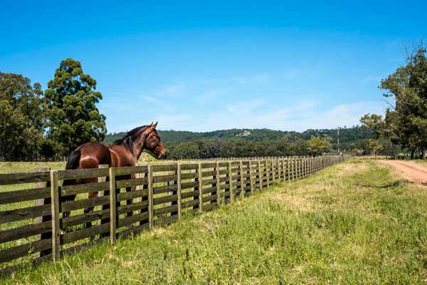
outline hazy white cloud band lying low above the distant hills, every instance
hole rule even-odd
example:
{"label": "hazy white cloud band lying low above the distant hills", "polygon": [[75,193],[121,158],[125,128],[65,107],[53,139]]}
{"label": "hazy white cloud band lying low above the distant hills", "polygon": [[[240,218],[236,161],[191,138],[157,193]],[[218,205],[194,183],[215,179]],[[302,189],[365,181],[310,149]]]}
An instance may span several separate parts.
{"label": "hazy white cloud band lying low above the distant hills", "polygon": [[[334,105],[320,110],[318,103],[305,101],[283,108],[267,106],[263,101],[236,103],[219,113],[203,114],[196,117],[177,115],[160,117],[159,123],[175,130],[206,132],[230,128],[270,128],[273,130],[303,131],[310,128],[337,128],[338,126],[359,125],[365,113],[384,113],[386,106],[381,102],[361,102]],[[263,108],[261,108],[263,107]]]}

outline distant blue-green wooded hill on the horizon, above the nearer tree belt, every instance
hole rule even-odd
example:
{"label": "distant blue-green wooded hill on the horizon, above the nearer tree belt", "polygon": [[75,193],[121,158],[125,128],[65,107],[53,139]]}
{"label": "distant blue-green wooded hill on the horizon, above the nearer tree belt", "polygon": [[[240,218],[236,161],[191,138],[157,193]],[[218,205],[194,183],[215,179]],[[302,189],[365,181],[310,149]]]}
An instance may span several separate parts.
{"label": "distant blue-green wooded hill on the horizon, above the nearer tree belt", "polygon": [[[110,133],[105,136],[105,142],[110,143],[122,138],[126,133]],[[243,140],[279,140],[288,138],[289,141],[310,140],[312,137],[330,138],[332,143],[337,142],[337,130],[305,130],[302,133],[270,130],[270,129],[230,129],[214,130],[213,132],[189,132],[185,130],[159,130],[162,142],[186,142],[191,140],[214,138],[214,139],[243,139]],[[339,130],[339,142],[355,142],[374,138],[374,133],[367,128],[354,126],[350,128],[341,128]]]}

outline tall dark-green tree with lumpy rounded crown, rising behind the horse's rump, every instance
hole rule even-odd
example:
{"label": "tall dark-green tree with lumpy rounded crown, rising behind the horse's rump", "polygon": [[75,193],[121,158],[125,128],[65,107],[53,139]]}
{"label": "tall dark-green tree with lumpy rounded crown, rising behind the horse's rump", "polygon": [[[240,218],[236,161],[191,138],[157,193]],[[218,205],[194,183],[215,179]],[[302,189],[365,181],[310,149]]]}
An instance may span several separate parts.
{"label": "tall dark-green tree with lumpy rounded crown, rising behind the horse's rump", "polygon": [[48,138],[59,143],[63,155],[84,142],[105,138],[105,115],[96,108],[102,95],[95,89],[95,79],[83,73],[80,62],[72,58],[61,61],[48,82]]}

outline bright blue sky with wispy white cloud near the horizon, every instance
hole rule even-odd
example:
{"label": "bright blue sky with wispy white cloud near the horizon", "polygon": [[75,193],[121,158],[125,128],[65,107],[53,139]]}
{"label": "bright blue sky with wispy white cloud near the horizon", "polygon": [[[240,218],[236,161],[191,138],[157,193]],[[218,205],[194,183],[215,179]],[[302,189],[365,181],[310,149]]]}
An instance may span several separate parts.
{"label": "bright blue sky with wispy white cloud near the horizon", "polygon": [[356,125],[384,113],[402,45],[427,40],[426,1],[0,4],[0,71],[46,88],[79,60],[109,132]]}

